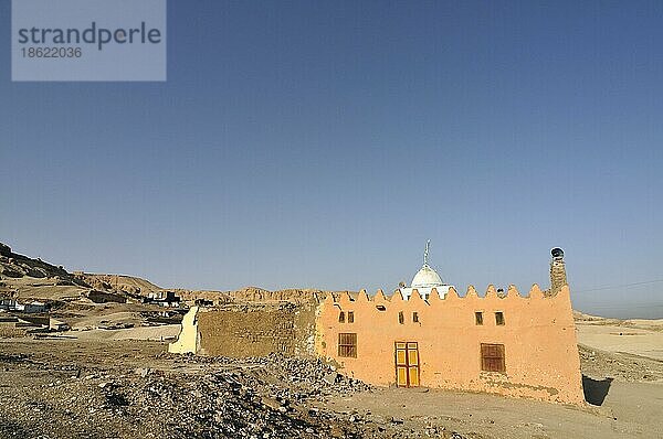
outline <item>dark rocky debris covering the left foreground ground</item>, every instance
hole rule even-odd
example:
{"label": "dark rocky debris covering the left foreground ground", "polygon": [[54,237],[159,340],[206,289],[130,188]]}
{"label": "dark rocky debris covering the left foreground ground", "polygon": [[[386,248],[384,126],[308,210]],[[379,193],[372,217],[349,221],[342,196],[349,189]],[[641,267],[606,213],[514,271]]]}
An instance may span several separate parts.
{"label": "dark rocky debris covering the left foreground ground", "polygon": [[[462,438],[440,426],[320,407],[326,396],[372,388],[317,360],[157,355],[173,363],[169,371],[41,360],[0,356],[0,437]],[[30,379],[20,386],[20,376]]]}

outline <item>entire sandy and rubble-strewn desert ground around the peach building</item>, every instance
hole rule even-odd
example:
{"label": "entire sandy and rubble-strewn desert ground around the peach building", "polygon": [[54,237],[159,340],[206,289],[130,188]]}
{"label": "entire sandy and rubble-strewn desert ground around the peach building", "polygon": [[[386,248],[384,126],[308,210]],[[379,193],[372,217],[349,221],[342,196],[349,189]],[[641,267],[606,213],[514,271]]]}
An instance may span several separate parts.
{"label": "entire sandy and rubble-strewn desert ground around the peach building", "polygon": [[167,354],[178,325],[4,339],[0,437],[660,438],[662,329],[578,319],[585,407],[371,387],[315,361]]}

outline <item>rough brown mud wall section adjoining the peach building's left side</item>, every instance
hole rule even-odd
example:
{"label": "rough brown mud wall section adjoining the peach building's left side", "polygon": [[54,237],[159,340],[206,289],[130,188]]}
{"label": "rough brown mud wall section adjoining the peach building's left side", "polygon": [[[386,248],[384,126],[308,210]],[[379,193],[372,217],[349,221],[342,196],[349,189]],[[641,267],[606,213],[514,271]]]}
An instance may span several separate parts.
{"label": "rough brown mud wall section adjoining the peach building's left side", "polygon": [[200,309],[198,353],[232,357],[315,355],[316,303],[241,304]]}

